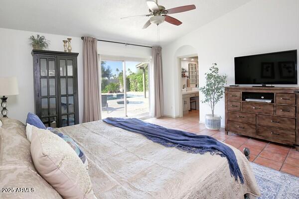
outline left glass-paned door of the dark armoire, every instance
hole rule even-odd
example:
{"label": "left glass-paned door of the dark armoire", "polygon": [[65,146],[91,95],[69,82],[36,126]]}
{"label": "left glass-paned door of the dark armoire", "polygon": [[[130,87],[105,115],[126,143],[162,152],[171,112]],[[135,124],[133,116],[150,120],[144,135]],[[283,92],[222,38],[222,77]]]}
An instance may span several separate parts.
{"label": "left glass-paned door of the dark armoire", "polygon": [[56,128],[57,124],[57,84],[55,58],[40,58],[40,104],[41,120],[47,127]]}

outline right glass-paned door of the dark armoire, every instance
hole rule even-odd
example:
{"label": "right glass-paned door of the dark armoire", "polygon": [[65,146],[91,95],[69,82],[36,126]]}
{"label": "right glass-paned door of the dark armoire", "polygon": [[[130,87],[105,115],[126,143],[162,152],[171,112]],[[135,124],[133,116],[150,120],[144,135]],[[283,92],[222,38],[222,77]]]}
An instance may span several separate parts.
{"label": "right glass-paned door of the dark armoire", "polygon": [[75,124],[73,60],[59,57],[58,66],[60,126],[71,126]]}

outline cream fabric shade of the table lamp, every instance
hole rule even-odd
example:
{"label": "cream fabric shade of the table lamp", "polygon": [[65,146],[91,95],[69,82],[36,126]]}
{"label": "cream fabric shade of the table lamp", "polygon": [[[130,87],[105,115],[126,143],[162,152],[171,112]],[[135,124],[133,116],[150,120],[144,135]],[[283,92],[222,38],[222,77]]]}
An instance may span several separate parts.
{"label": "cream fabric shade of the table lamp", "polygon": [[0,77],[0,96],[18,95],[16,77]]}

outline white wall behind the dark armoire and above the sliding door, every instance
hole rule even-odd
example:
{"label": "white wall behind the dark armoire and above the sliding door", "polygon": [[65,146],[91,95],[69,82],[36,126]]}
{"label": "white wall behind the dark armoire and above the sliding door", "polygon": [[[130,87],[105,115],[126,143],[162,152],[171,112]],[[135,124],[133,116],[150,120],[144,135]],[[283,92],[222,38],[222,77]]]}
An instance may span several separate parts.
{"label": "white wall behind the dark armoire and above the sliding door", "polygon": [[[34,112],[33,64],[28,38],[36,32],[0,28],[0,77],[16,76],[19,86],[18,96],[8,97],[8,116],[25,122],[28,112]],[[78,56],[78,96],[79,117],[83,117],[83,61],[82,40],[79,37],[39,33],[50,40],[48,50],[63,51],[62,40],[72,38],[72,52]],[[98,42],[98,53],[128,57],[151,58],[151,49]]]}

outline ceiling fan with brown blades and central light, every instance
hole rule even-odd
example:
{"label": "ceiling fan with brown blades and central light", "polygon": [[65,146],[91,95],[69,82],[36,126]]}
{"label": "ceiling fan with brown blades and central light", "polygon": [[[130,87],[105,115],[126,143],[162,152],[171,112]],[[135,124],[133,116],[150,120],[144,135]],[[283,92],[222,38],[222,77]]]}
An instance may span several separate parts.
{"label": "ceiling fan with brown blades and central light", "polygon": [[143,29],[149,27],[150,24],[156,24],[159,25],[163,23],[164,21],[171,23],[173,25],[180,25],[182,24],[181,21],[177,20],[176,18],[173,18],[171,16],[168,16],[167,14],[174,14],[178,12],[185,12],[192,9],[195,9],[195,5],[184,5],[179,7],[174,7],[170,9],[165,9],[164,6],[158,5],[157,0],[147,0],[147,4],[149,6],[149,14],[142,14],[142,15],[136,15],[136,16],[127,16],[122,17],[124,18],[131,18],[131,17],[139,17],[139,16],[151,16],[149,20],[146,22],[146,24],[143,26]]}

